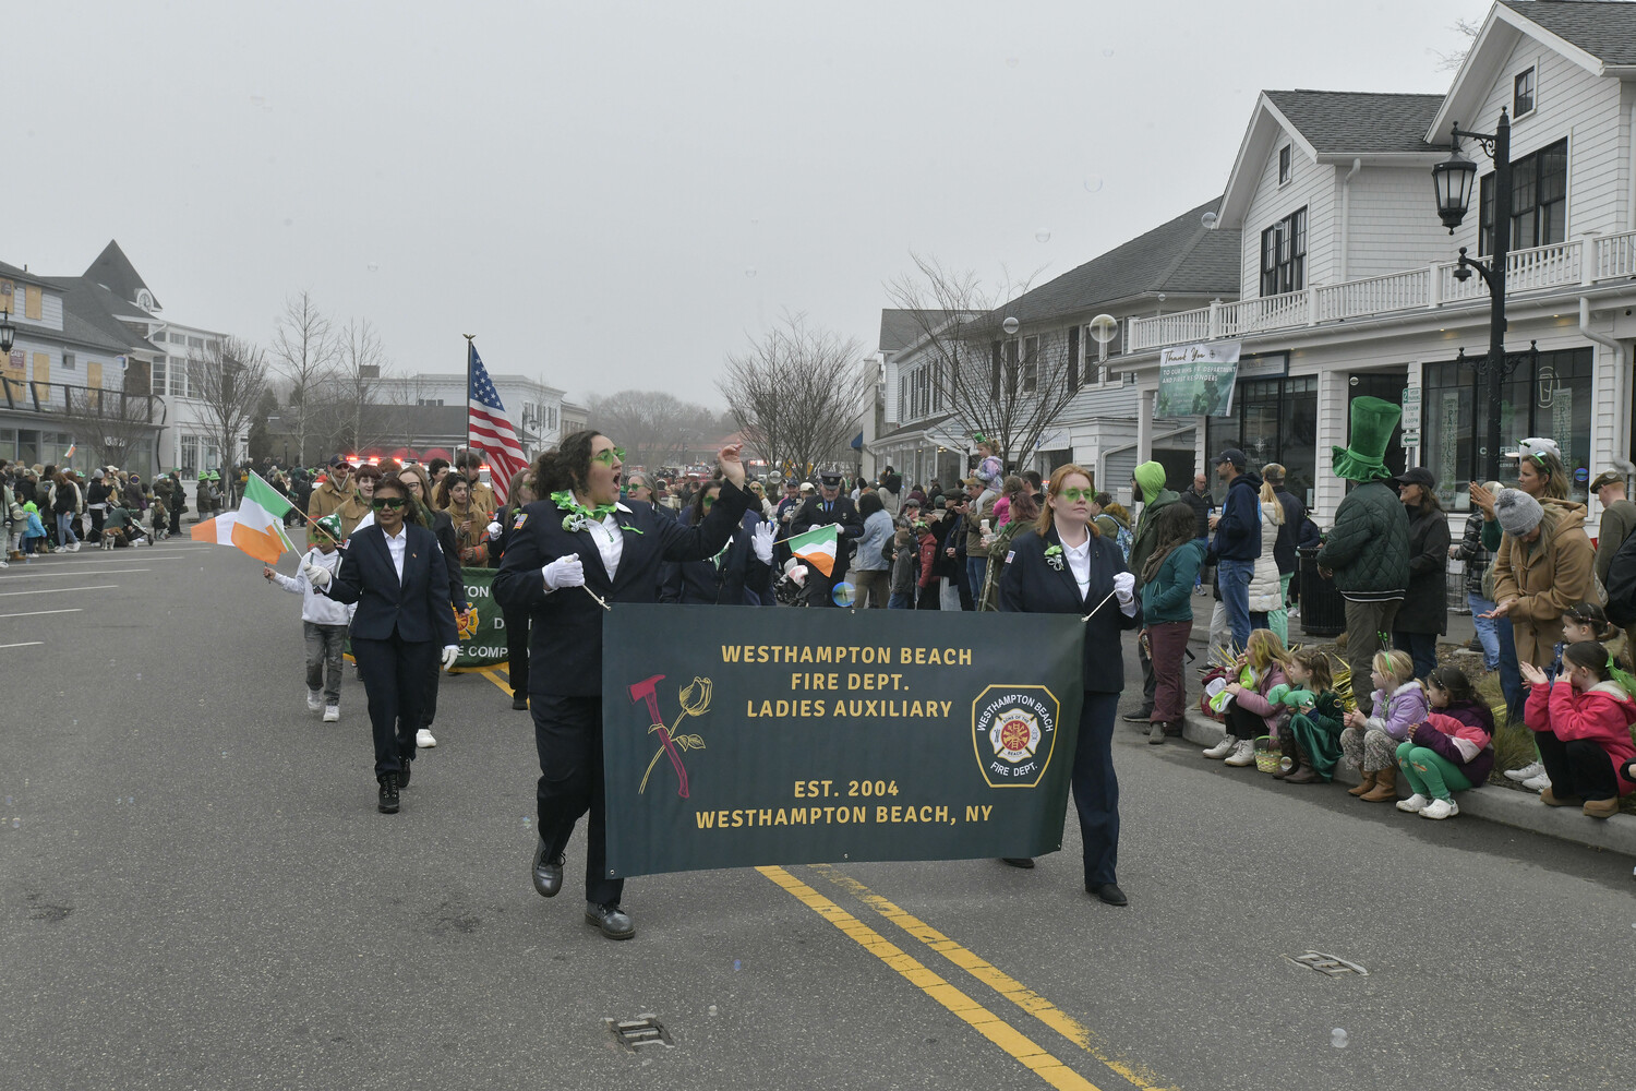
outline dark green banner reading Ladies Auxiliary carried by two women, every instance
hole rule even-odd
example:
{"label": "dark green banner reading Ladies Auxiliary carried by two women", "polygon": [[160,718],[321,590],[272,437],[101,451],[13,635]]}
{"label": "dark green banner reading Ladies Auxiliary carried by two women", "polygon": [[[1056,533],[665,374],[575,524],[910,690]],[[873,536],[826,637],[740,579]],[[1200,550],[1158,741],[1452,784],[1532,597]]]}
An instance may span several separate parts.
{"label": "dark green banner reading Ladies Auxiliary carried by two women", "polygon": [[1054,852],[1083,641],[1057,613],[615,604],[609,875]]}

